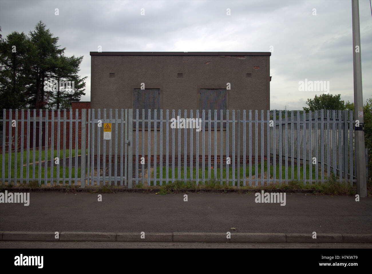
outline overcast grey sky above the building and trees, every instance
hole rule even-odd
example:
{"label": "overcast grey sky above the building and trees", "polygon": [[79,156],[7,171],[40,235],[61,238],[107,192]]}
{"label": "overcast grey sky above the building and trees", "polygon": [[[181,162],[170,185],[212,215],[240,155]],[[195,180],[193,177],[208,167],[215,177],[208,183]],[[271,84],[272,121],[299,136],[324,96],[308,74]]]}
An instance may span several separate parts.
{"label": "overcast grey sky above the building and trees", "polygon": [[[55,15],[55,9],[59,15]],[[141,15],[144,9],[145,15]],[[227,9],[231,15],[227,15]],[[316,9],[316,15],[313,15]],[[359,1],[363,102],[372,96],[372,16]],[[299,91],[299,81],[329,81],[329,92],[354,101],[351,0],[338,1],[4,1],[5,37],[29,33],[42,20],[68,56],[90,51],[270,51],[270,108],[302,109],[323,92]]]}

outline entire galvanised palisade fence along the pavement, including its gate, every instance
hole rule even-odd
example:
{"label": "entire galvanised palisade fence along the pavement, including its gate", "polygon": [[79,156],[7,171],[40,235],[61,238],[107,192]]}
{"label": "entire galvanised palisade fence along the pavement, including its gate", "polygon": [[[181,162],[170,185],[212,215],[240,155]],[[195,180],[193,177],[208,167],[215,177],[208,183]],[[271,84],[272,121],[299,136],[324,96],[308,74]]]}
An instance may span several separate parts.
{"label": "entire galvanised palisade fence along the pavement, including its gate", "polygon": [[[312,184],[331,173],[338,181],[356,181],[351,111],[276,114],[260,111],[259,119],[258,111],[245,110],[4,110],[1,179],[129,188],[211,180],[238,188]],[[104,123],[111,123],[111,140],[103,140]]]}

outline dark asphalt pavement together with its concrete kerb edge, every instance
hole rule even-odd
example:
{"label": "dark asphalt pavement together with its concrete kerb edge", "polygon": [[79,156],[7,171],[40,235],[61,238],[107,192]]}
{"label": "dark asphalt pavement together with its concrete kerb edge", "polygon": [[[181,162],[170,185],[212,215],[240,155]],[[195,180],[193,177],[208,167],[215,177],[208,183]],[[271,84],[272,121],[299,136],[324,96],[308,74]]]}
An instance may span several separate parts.
{"label": "dark asphalt pavement together with its concrete kerb edge", "polygon": [[101,194],[102,201],[98,195],[30,192],[29,206],[1,203],[0,239],[2,243],[372,242],[372,198],[356,202],[355,197],[287,193],[286,205],[280,206],[255,203],[254,194],[188,193],[187,201],[183,193]]}

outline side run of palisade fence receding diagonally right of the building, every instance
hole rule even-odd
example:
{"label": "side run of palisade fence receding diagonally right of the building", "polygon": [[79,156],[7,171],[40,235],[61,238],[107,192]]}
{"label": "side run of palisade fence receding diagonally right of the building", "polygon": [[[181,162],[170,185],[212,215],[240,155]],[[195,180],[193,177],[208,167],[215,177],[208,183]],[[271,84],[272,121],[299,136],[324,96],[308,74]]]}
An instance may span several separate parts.
{"label": "side run of palisade fence receding diagonally right of the building", "polygon": [[[275,145],[276,156],[285,160],[286,156],[282,153],[285,150],[285,141],[280,141],[280,139],[288,138],[288,150],[292,153],[292,148],[294,149],[294,161],[291,161],[291,163],[297,163],[298,158],[299,163],[303,164],[304,159],[306,159],[304,155],[307,153],[308,158],[305,161],[308,163],[312,157],[315,157],[317,164],[321,167],[321,172],[323,173],[324,168],[326,169],[327,178],[332,172],[338,175],[339,179],[352,178],[350,182],[355,181],[355,166],[353,165],[355,121],[353,121],[353,112],[321,110],[310,111],[301,115],[299,111],[291,111],[288,114],[289,117],[286,116],[286,120],[276,118],[275,130],[273,127],[270,128],[271,134],[276,136],[276,138],[270,139],[270,146]],[[281,112],[279,117],[282,117]],[[273,143],[274,139],[276,143]],[[279,143],[282,144],[281,147]],[[309,146],[311,147],[311,157]],[[273,155],[273,152],[271,153]],[[290,157],[289,160],[291,159]],[[327,168],[327,166],[330,168]],[[315,180],[318,181],[318,173],[315,173]],[[324,181],[323,178],[322,181]]]}

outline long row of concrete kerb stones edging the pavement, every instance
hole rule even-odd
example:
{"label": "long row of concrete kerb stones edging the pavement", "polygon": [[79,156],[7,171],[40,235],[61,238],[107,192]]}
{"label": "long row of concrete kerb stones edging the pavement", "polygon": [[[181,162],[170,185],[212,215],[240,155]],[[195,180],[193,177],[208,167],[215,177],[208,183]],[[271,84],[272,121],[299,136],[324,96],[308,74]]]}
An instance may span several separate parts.
{"label": "long row of concrete kerb stones edging the pavement", "polygon": [[[0,232],[1,241],[41,241],[41,242],[227,242],[227,243],[372,243],[372,234],[318,233],[228,233],[214,232]],[[142,236],[142,237],[141,237]]]}

